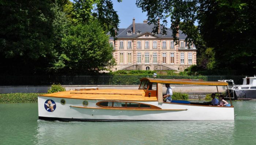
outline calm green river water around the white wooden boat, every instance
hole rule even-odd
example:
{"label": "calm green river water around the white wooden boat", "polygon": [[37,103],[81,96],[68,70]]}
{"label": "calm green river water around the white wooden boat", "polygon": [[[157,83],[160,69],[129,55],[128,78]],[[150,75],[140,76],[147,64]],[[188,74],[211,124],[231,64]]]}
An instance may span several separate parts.
{"label": "calm green river water around the white wooden boat", "polygon": [[234,121],[60,122],[39,120],[37,103],[0,104],[0,145],[255,145],[256,100],[233,105]]}

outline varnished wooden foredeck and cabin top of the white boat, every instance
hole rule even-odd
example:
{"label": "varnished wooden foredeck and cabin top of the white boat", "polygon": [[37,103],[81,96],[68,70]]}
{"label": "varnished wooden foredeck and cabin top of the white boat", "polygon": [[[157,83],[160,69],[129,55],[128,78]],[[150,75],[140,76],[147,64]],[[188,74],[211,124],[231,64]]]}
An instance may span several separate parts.
{"label": "varnished wooden foredeck and cabin top of the white boat", "polygon": [[64,91],[40,96],[87,99],[87,100],[125,100],[125,101],[158,101],[157,97],[145,97],[142,89],[98,89],[86,91]]}

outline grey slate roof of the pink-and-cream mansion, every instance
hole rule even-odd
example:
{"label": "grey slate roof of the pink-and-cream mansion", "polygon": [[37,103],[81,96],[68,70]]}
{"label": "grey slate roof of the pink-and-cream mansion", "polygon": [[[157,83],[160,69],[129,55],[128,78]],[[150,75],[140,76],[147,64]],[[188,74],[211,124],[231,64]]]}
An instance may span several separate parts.
{"label": "grey slate roof of the pink-and-cream mansion", "polygon": [[[117,32],[117,38],[135,38],[137,37],[138,35],[136,34],[136,31],[141,31],[141,34],[144,34],[144,33],[151,33],[152,30],[154,28],[154,24],[147,24],[147,23],[135,23],[135,34],[130,34],[130,35],[127,35],[127,31],[129,30],[133,30],[133,24],[131,24],[129,27],[127,28],[120,28],[119,31]],[[162,27],[160,27],[161,29]],[[155,36],[159,37],[159,38],[173,38],[172,37],[172,30],[170,28],[167,28],[166,30],[166,35],[162,35],[162,34],[155,34]],[[185,39],[186,38],[186,35],[185,34],[182,34],[182,31],[179,30],[179,39],[182,40],[182,39]],[[109,35],[109,33],[108,33]],[[110,39],[113,39],[112,37],[110,37]]]}

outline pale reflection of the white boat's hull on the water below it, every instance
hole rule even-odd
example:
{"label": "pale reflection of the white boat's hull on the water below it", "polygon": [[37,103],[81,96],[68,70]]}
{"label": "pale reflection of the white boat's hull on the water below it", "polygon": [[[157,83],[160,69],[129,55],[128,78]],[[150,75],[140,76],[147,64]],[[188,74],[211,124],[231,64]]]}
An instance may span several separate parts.
{"label": "pale reflection of the white boat's hull on the water below it", "polygon": [[[49,125],[50,124],[50,125]],[[50,126],[50,128],[49,128]],[[210,144],[234,142],[234,121],[59,122],[38,121],[37,144]],[[228,136],[223,136],[228,133]],[[211,142],[208,142],[211,141]],[[63,144],[63,142],[55,142]]]}

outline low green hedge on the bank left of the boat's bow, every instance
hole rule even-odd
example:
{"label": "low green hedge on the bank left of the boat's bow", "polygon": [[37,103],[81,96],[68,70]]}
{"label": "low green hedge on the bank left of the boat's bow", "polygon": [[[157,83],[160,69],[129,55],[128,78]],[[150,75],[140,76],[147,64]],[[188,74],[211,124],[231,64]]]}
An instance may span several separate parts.
{"label": "low green hedge on the bank left of the boat's bow", "polygon": [[[42,94],[42,93],[41,93]],[[37,96],[39,93],[12,93],[12,94],[0,94],[0,103],[27,103],[37,102]]]}

